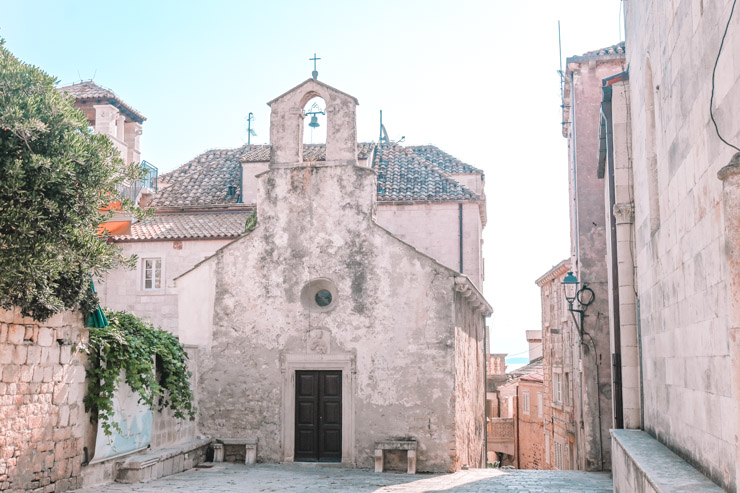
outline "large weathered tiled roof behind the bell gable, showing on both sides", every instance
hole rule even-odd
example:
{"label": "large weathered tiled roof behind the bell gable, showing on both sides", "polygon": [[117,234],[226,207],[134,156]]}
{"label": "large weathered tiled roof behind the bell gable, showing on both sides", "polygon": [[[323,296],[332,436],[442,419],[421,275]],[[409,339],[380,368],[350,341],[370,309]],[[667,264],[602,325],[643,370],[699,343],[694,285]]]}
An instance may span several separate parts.
{"label": "large weathered tiled roof behind the bell gable, showing on both sides", "polygon": [[[368,159],[377,145],[357,145],[357,157]],[[418,149],[418,150],[417,150]],[[380,159],[379,156],[385,156]],[[304,161],[326,159],[324,144],[305,144]],[[159,189],[151,205],[155,208],[233,204],[241,194],[240,163],[269,162],[269,145],[206,151],[179,168],[159,176],[167,184]],[[459,201],[478,197],[458,184],[448,173],[480,173],[434,146],[377,147],[373,167],[378,173],[379,201]],[[449,170],[449,171],[448,171]],[[229,186],[234,195],[228,196]]]}

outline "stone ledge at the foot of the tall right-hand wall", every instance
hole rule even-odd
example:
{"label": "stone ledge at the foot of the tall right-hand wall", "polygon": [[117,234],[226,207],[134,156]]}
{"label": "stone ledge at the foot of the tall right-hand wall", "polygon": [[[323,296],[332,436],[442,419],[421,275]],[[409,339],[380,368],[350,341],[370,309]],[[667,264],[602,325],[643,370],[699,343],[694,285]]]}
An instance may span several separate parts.
{"label": "stone ledge at the foot of the tall right-hand wall", "polygon": [[668,493],[722,488],[642,430],[611,430],[615,493]]}

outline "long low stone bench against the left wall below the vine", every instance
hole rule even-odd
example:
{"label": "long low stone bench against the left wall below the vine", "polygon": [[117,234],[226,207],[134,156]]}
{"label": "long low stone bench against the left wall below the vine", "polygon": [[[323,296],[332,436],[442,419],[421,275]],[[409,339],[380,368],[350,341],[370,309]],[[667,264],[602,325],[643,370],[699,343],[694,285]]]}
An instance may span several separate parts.
{"label": "long low stone bench against the left wall below the vine", "polygon": [[186,471],[205,462],[210,438],[196,438],[167,448],[147,450],[118,461],[118,483],[143,483]]}

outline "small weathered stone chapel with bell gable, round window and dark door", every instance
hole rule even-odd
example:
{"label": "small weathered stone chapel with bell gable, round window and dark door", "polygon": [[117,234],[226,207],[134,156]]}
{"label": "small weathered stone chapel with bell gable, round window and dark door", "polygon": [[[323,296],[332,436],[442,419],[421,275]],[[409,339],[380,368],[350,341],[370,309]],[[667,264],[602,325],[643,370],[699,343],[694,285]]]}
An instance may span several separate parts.
{"label": "small weathered stone chapel with bell gable, round window and dark door", "polygon": [[[325,159],[306,161],[301,110],[317,95]],[[357,104],[311,79],[273,100],[256,227],[176,279],[180,340],[200,347],[200,429],[254,437],[260,461],[369,467],[376,441],[406,437],[420,470],[482,467],[491,309],[376,223],[389,184],[358,161]],[[383,147],[378,164],[393,152],[415,156]]]}

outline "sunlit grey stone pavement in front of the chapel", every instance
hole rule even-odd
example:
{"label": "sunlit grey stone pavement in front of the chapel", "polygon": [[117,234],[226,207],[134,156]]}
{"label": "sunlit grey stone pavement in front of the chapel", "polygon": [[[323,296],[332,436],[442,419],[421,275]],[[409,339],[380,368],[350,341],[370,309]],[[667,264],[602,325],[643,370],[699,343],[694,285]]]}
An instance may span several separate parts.
{"label": "sunlit grey stone pavement in front of the chapel", "polygon": [[[206,464],[209,465],[209,464]],[[215,492],[367,492],[367,493],[607,493],[609,473],[471,469],[454,474],[375,473],[367,469],[257,464],[216,464],[157,481],[112,484],[76,493]]]}

